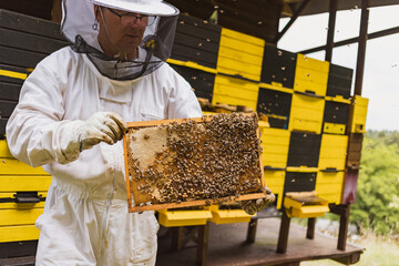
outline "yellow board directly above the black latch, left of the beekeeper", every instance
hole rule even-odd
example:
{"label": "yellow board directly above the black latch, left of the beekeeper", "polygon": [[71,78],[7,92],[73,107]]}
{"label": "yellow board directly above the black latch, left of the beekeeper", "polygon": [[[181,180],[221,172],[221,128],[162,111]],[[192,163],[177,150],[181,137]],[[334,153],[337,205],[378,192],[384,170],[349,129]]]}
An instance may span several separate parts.
{"label": "yellow board directly above the black latch, left of the beekeeper", "polygon": [[0,192],[48,191],[51,180],[50,175],[0,175]]}

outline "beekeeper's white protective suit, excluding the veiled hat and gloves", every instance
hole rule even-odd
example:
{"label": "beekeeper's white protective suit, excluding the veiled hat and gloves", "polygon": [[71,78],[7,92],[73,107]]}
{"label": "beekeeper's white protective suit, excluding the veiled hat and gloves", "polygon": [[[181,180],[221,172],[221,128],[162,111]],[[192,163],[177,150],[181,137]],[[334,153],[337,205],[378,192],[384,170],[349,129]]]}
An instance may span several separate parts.
{"label": "beekeeper's white protective suit, excluding the veiled hat and gloves", "polygon": [[39,63],[7,125],[11,153],[53,176],[37,221],[37,265],[155,264],[158,224],[153,212],[127,212],[122,143],[100,143],[72,162],[61,152],[75,124],[95,112],[127,122],[202,115],[190,84],[167,63],[132,81],[104,78],[70,48]]}

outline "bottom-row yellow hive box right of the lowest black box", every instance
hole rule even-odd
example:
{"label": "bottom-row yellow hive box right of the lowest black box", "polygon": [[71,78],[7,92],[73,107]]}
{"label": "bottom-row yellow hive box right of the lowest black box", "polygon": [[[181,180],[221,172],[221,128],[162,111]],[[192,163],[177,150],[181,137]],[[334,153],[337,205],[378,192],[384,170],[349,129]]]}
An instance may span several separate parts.
{"label": "bottom-row yellow hive box right of the lowest black box", "polygon": [[317,195],[328,203],[340,204],[344,176],[344,172],[318,172],[316,178]]}

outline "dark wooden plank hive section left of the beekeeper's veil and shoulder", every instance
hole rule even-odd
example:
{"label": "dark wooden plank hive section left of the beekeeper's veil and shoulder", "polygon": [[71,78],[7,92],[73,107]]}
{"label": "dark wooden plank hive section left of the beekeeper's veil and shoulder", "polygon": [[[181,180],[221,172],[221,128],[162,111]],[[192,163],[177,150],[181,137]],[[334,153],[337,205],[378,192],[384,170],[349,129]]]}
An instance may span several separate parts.
{"label": "dark wooden plank hive section left of the beekeeper's veil and shoulder", "polygon": [[24,78],[48,54],[65,47],[60,25],[0,10],[0,139]]}

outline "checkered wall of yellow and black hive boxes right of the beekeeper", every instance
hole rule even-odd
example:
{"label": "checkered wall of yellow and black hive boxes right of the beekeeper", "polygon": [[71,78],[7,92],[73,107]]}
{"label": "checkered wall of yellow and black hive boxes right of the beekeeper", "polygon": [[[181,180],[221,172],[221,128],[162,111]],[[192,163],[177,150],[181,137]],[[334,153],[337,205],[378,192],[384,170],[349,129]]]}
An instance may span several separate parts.
{"label": "checkered wall of yellow and black hive boxes right of the beekeeper", "polygon": [[[193,35],[211,28],[219,32],[218,39],[215,34],[212,39],[219,43],[217,61],[215,57],[206,65],[195,57],[170,61],[186,66],[193,62],[198,72],[186,78],[195,81],[197,96],[206,92],[214,104],[244,105],[267,117],[269,126],[262,127],[263,162],[266,184],[277,194],[277,208],[287,192],[316,190],[329,203],[351,201],[342,197],[354,193],[345,180],[357,175],[352,168],[360,163],[368,104],[367,99],[350,96],[352,70],[202,20],[186,16],[180,20],[195,25]],[[196,45],[202,42],[200,38]],[[181,60],[173,54],[172,59]],[[186,66],[174,68],[184,74],[191,71]],[[212,93],[211,79],[200,78],[205,72],[214,78]]]}

